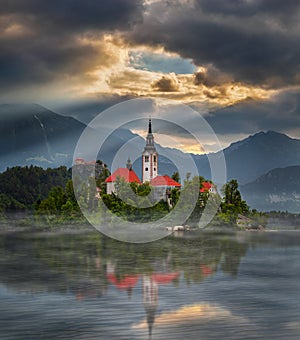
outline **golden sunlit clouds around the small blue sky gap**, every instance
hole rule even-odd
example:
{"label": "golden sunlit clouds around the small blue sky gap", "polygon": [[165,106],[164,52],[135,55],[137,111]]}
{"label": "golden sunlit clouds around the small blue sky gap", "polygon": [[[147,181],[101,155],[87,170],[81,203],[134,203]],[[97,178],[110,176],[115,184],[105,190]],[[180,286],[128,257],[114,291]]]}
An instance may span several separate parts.
{"label": "golden sunlit clouds around the small blue sky gap", "polygon": [[226,76],[216,75],[218,81],[206,79],[201,83],[197,75],[205,74],[206,68],[203,66],[199,66],[194,73],[180,74],[176,70],[165,73],[136,68],[132,62],[132,53],[137,56],[152,53],[157,57],[180,58],[175,53],[164,51],[163,47],[130,46],[118,35],[105,35],[99,40],[86,37],[83,41],[97,48],[99,52],[98,66],[87,72],[87,76],[94,81],[89,86],[84,86],[85,94],[152,96],[183,103],[198,101],[227,106],[247,98],[267,99],[276,93],[274,90],[230,81]]}

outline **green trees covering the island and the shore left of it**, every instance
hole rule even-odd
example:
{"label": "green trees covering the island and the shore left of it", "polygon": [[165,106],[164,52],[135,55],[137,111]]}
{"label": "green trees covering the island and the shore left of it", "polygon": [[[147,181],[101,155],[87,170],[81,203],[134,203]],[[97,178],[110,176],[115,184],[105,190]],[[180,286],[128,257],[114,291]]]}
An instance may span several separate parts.
{"label": "green trees covering the island and the shore left of it", "polygon": [[[195,204],[185,223],[197,225],[204,208],[216,211],[221,200],[218,194],[200,192],[206,180],[202,176],[191,178],[190,173],[187,173],[181,189],[169,191],[170,206],[163,200],[155,204],[149,183],[128,184],[122,178],[117,178],[116,195],[107,195],[105,179],[110,172],[103,162],[97,161],[95,167],[84,164],[77,167],[79,171],[74,176],[76,195],[71,180],[71,169],[64,166],[47,170],[36,166],[8,168],[0,174],[0,212],[3,214],[8,210],[35,208],[37,216],[50,216],[50,219],[55,221],[81,219],[82,214],[76,196],[81,208],[89,212],[99,212],[99,197],[96,198],[96,187],[99,187],[100,199],[109,210],[128,221],[156,221],[168,214],[182,196],[182,211],[179,211],[179,215],[190,209],[191,204]],[[95,179],[90,177],[88,183],[81,179],[86,173],[93,176],[93,170]],[[178,172],[173,173],[172,178],[180,182]],[[236,180],[229,181],[222,191],[224,197],[221,209],[215,216],[213,224],[235,225],[238,214],[248,216],[255,225],[266,223],[264,214],[255,210],[250,211],[247,203],[242,200]]]}

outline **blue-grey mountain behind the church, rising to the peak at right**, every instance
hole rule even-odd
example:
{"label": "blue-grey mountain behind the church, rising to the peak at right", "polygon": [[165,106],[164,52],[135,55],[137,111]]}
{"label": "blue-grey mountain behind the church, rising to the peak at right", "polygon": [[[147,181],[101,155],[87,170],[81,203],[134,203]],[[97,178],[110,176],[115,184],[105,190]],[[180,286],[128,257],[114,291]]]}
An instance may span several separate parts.
{"label": "blue-grey mountain behind the church, rising to the peak at right", "polygon": [[[111,141],[114,141],[114,143],[111,150],[115,151],[112,154],[106,153],[102,157],[109,165],[118,147],[121,146],[121,141],[119,143],[115,141],[115,137],[119,136],[119,132],[114,132],[112,136],[114,138]],[[127,133],[123,131],[120,136],[123,137],[123,143],[126,141],[126,138],[128,140],[135,138],[133,149],[137,150],[137,155],[142,153],[145,141],[141,137],[128,131]],[[108,144],[111,144],[111,142]],[[211,153],[207,156],[187,154],[177,149],[162,147],[158,144],[156,144],[156,148],[159,154],[159,172],[161,174],[172,174],[177,170],[175,167],[177,165],[181,166],[182,173],[185,176],[187,172],[190,172],[188,164],[189,159],[192,157],[199,174],[211,179],[209,159],[213,164],[214,161],[221,157],[221,152]],[[300,165],[300,140],[274,131],[259,132],[244,140],[232,143],[223,150],[223,153],[226,161],[227,179],[234,178],[240,184],[246,184],[274,168]],[[126,157],[128,156],[130,156],[130,151],[126,154]],[[124,164],[125,158],[118,166],[124,166]],[[141,173],[141,165],[141,160],[138,158],[134,163],[138,175]]]}

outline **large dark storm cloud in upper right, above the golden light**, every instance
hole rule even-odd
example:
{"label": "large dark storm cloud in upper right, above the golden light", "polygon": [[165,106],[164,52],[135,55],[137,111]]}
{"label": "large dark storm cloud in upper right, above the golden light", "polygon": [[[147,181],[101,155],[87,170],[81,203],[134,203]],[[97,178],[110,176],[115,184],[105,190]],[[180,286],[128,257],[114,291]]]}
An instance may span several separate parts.
{"label": "large dark storm cloud in upper right, above the golden light", "polygon": [[202,0],[152,4],[130,39],[212,64],[236,81],[300,82],[300,1]]}

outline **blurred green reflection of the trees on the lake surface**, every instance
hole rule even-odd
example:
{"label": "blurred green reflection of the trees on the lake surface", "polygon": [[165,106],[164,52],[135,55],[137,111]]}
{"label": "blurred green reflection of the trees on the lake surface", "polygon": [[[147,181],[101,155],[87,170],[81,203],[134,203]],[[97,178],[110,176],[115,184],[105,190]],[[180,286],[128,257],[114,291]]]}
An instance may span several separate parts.
{"label": "blurred green reflection of the trees on the lake surface", "polygon": [[[229,236],[202,234],[195,239],[166,238],[130,244],[98,233],[0,237],[3,283],[30,291],[72,291],[78,298],[101,296],[107,289],[107,263],[117,280],[126,275],[181,272],[187,283],[201,282],[218,269],[235,276],[247,244]],[[25,248],[25,252],[24,252]],[[178,279],[173,281],[178,284]]]}

